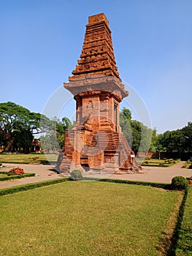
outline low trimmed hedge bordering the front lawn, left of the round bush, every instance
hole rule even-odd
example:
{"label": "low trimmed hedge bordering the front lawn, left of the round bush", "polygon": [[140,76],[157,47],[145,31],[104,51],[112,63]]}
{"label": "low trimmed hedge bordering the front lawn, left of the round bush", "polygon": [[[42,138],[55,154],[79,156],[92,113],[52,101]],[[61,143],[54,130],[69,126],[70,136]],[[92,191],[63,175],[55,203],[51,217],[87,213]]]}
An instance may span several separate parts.
{"label": "low trimmed hedge bordering the front lawn, left of the round bush", "polygon": [[52,184],[57,184],[57,183],[61,183],[64,181],[69,181],[69,178],[67,178],[67,177],[66,178],[56,178],[51,181],[42,181],[42,182],[37,182],[37,183],[25,184],[25,185],[17,186],[17,187],[9,187],[6,189],[0,189],[0,196],[13,194],[16,192],[21,192],[21,191],[26,191],[29,189],[36,189],[37,187],[50,186]]}

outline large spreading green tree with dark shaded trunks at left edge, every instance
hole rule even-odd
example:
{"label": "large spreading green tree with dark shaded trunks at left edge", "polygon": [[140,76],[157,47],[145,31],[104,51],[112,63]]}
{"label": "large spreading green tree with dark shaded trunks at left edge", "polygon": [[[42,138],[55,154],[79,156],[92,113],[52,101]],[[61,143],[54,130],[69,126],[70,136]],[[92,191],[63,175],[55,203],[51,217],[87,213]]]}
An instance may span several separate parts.
{"label": "large spreading green tree with dark shaded trunks at left edge", "polygon": [[13,102],[0,103],[0,144],[9,151],[21,147],[29,151],[33,135],[45,132],[50,124],[50,119],[40,113]]}

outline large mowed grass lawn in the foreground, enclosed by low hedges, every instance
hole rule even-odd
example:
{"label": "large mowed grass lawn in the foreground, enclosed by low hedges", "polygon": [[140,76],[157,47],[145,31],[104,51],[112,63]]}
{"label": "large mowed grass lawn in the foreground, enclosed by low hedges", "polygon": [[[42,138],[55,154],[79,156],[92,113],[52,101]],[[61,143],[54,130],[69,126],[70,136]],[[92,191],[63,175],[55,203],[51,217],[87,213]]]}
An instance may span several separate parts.
{"label": "large mowed grass lawn in the foreground, enclosed by low hedges", "polygon": [[66,181],[0,197],[0,255],[158,255],[180,192]]}

